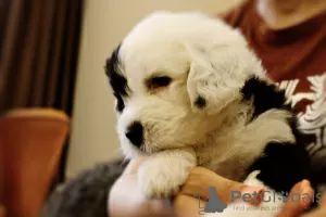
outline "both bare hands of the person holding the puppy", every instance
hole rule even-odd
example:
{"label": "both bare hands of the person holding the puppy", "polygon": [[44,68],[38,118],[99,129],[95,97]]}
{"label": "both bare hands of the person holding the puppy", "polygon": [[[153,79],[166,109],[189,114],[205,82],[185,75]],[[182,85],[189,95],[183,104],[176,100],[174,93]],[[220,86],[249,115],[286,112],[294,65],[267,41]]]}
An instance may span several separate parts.
{"label": "both bare hands of the person holding the puppy", "polygon": [[[201,199],[208,199],[210,187],[218,189],[216,192],[217,196],[225,203],[231,202],[231,191],[239,191],[242,194],[253,194],[263,191],[262,188],[249,187],[225,179],[209,169],[196,167],[172,204],[168,201],[148,201],[137,188],[137,169],[143,159],[131,161],[111,189],[108,201],[110,217],[197,217],[200,216],[199,212],[201,210],[199,203],[200,207],[203,207],[205,201],[199,201],[193,195],[200,193]],[[313,195],[313,189],[306,180],[297,183],[291,192],[300,195]],[[263,203],[259,196],[256,199],[259,201],[250,200],[248,203],[253,207]],[[285,204],[284,209],[275,217],[297,217],[304,213],[309,206],[310,203],[308,201],[293,202],[289,200]],[[321,202],[321,207],[304,215],[304,217],[322,217],[325,214],[326,195]]]}

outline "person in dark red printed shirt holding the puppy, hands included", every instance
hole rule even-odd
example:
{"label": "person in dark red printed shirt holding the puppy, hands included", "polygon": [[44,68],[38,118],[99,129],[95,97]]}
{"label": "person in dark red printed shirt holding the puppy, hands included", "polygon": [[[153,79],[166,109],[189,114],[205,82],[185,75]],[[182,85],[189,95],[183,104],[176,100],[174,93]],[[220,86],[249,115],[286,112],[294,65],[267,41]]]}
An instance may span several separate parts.
{"label": "person in dark red printed shirt holding the puppy, hands included", "polygon": [[[268,76],[286,90],[300,117],[314,167],[326,169],[326,135],[322,133],[326,130],[326,1],[248,0],[221,17],[241,30]],[[218,197],[225,202],[229,202],[231,190],[262,190],[197,167],[173,206],[162,201],[148,202],[136,188],[135,173],[141,161],[131,162],[112,187],[110,216],[197,216],[198,199],[192,195],[201,193],[205,197],[211,186],[218,189]],[[303,180],[292,191],[311,194],[312,188]],[[316,210],[303,215],[309,205],[288,202],[277,217],[325,216],[326,196]]]}

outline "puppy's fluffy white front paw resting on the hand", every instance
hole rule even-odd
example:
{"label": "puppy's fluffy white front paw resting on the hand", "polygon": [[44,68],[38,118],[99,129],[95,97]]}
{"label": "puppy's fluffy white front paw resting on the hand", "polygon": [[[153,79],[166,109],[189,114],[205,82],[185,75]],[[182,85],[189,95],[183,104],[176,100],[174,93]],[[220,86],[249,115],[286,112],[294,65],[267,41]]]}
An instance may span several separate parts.
{"label": "puppy's fluffy white front paw resting on the hand", "polygon": [[138,183],[147,199],[168,199],[179,190],[196,162],[162,161],[161,157],[147,159],[138,170]]}

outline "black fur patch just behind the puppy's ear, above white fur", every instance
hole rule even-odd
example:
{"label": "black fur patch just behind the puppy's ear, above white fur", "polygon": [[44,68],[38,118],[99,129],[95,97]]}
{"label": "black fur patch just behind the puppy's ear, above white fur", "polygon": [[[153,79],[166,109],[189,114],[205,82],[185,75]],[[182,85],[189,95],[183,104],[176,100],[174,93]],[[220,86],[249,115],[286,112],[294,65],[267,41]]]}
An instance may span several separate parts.
{"label": "black fur patch just behind the puppy's ear, above white fur", "polygon": [[253,100],[254,113],[253,117],[266,112],[271,108],[286,108],[286,97],[283,90],[276,85],[267,84],[258,77],[251,77],[241,89],[243,100]]}

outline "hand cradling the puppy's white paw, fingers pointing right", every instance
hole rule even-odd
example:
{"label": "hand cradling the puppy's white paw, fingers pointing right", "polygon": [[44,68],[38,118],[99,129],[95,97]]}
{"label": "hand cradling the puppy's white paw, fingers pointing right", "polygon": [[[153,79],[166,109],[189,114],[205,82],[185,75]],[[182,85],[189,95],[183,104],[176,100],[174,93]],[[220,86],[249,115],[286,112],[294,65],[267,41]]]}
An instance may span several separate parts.
{"label": "hand cradling the puppy's white paw, fingers pointing right", "polygon": [[[228,195],[231,190],[248,192],[261,189],[247,187],[243,183],[224,179],[209,169],[196,167],[191,170],[179,194],[175,196],[172,207],[167,205],[167,201],[149,201],[142,195],[137,184],[137,170],[145,158],[131,161],[112,187],[108,202],[110,217],[198,216],[198,199],[193,195],[200,193],[202,199],[208,199],[210,186],[218,189],[218,196],[224,201],[230,200]],[[201,201],[201,204],[204,203]]]}

